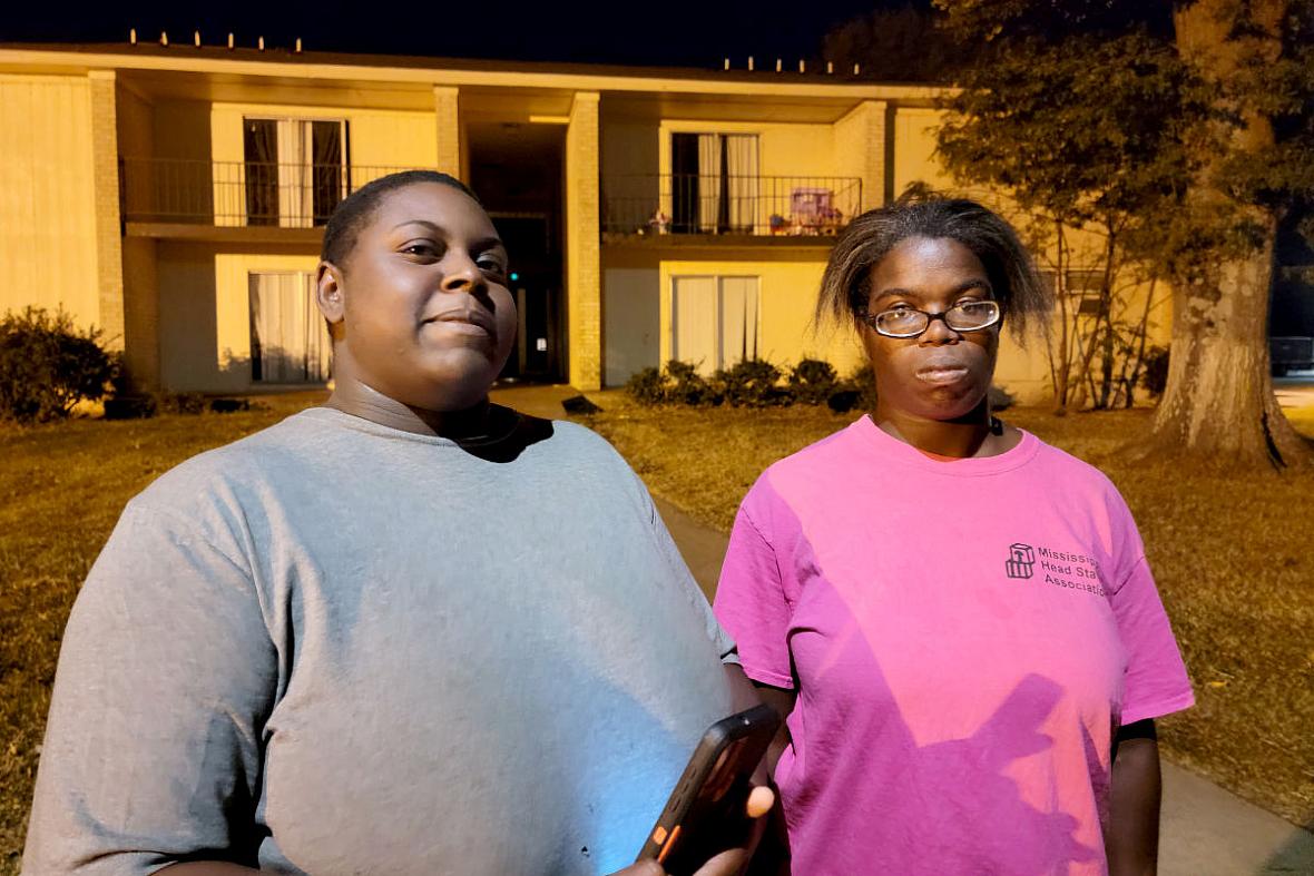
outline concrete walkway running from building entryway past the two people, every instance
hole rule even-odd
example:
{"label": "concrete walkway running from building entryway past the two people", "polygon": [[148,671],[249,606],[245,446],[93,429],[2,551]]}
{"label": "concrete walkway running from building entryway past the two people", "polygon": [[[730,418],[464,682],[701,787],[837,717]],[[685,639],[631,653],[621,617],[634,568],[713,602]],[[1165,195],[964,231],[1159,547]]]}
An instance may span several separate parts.
{"label": "concrete walkway running from building entryway past the two people", "polygon": [[[494,401],[536,416],[561,419],[569,386],[495,390]],[[657,499],[685,562],[708,595],[716,587],[727,537]],[[1164,762],[1160,876],[1314,875],[1314,834],[1250,804],[1188,770]]]}

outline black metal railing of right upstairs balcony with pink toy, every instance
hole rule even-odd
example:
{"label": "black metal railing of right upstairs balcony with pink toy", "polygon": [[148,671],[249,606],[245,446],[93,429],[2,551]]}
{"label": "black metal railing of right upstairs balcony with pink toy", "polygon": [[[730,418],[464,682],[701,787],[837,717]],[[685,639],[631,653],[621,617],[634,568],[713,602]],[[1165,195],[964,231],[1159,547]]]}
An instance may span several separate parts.
{"label": "black metal railing of right upstairs balcony with pink toy", "polygon": [[840,176],[650,173],[603,179],[608,234],[836,234],[861,210],[862,180]]}

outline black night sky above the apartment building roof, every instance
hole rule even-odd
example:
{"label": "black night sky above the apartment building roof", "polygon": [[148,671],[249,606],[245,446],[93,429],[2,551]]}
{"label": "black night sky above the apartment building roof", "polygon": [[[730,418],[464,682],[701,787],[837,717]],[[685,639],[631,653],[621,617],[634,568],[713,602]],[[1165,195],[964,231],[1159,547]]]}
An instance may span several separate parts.
{"label": "black night sky above the apartment building roof", "polygon": [[[196,4],[200,7],[200,4]],[[171,42],[218,45],[234,32],[238,45],[290,46],[307,51],[376,53],[499,60],[720,67],[729,55],[744,67],[777,56],[820,58],[834,25],[876,8],[929,5],[929,0],[619,0],[590,3],[252,3],[215,0],[204,12],[177,3],[14,4],[0,17],[0,42],[126,42],[160,30]]]}

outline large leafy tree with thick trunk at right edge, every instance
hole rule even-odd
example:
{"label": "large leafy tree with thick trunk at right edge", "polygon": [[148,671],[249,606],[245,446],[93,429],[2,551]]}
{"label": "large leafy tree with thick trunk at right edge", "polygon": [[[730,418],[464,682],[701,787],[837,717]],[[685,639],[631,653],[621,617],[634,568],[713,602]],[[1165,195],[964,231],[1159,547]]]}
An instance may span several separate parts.
{"label": "large leafy tree with thick trunk at right edge", "polygon": [[[1302,54],[1314,0],[936,3],[950,33],[988,45],[961,81],[975,127],[949,129],[950,163],[978,164],[966,172],[1062,222],[1087,211],[1114,235],[1110,252],[1125,247],[1172,285],[1148,452],[1314,465],[1273,397],[1265,338],[1276,223],[1314,201],[1314,68]],[[1079,77],[1064,56],[1091,59],[1096,75]],[[968,130],[988,143],[955,152],[955,130],[959,146]],[[1110,343],[1101,336],[1104,355]]]}

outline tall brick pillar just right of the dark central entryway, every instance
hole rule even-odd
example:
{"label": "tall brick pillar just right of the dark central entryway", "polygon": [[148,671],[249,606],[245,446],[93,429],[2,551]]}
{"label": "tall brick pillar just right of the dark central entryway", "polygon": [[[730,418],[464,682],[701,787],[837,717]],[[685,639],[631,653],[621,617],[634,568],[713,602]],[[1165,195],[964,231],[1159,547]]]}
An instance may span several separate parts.
{"label": "tall brick pillar just right of the dark central entryway", "polygon": [[598,92],[577,92],[566,129],[566,301],[570,385],[602,387]]}

